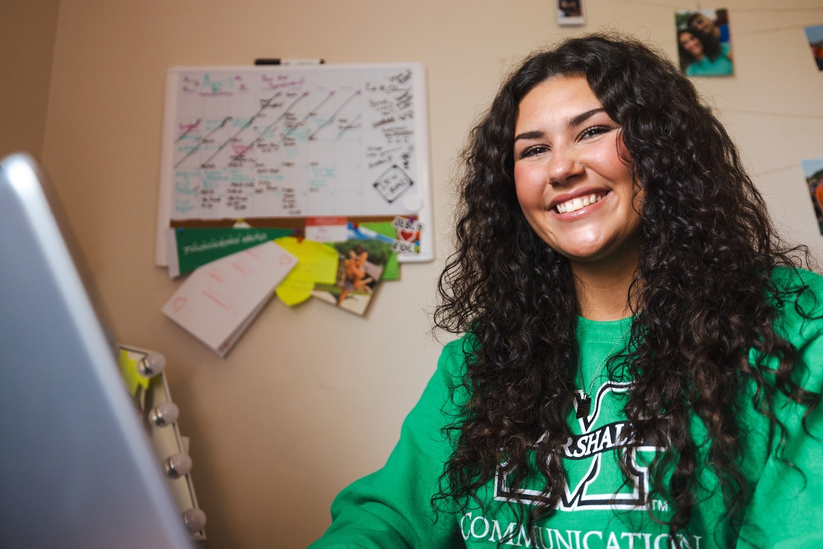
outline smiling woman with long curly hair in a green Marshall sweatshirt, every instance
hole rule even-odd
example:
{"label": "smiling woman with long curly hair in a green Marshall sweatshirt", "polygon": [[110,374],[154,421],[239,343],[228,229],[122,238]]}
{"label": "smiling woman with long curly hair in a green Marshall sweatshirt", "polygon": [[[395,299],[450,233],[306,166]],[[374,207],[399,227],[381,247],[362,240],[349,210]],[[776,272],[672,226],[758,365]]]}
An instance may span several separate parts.
{"label": "smiling woman with long curly hair in a green Marshall sweatshirt", "polygon": [[472,130],[444,349],[314,547],[817,547],[823,277],[663,54],[532,54]]}

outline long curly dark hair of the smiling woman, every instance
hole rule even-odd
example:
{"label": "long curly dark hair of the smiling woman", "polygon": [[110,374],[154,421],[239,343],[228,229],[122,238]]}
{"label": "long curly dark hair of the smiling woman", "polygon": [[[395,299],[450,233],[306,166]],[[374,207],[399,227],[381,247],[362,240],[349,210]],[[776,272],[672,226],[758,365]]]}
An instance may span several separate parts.
{"label": "long curly dark hair of the smiling woman", "polygon": [[[779,308],[805,288],[779,287],[772,272],[808,263],[808,252],[775,234],[737,148],[690,81],[658,51],[611,35],[532,54],[504,82],[463,151],[457,251],[440,276],[435,325],[469,334],[467,372],[453,388],[469,397],[446,429],[455,449],[433,503],[467,505],[501,463],[516,487],[538,473],[544,503],[518,508],[531,532],[564,491],[560,447],[570,436],[578,301],[569,263],[523,216],[513,173],[520,100],[547,78],[570,75],[584,76],[621,125],[644,196],[642,252],[626,296],[630,342],[608,371],[615,376],[619,364],[634,380],[625,415],[635,440],[666,441],[669,449],[654,458],[649,499],[669,501],[673,512],[663,522],[675,539],[690,523],[699,487],[693,472],[703,467],[689,428],[696,416],[710,436],[706,463],[728,509],[718,522],[739,527],[751,494],[739,466],[744,430],[736,397],[756,384],[756,409],[769,419],[777,449],[786,430],[774,396],[808,407],[820,401],[793,381],[797,351],[773,328]],[[763,358],[751,363],[751,349]],[[766,357],[779,366],[768,368]],[[624,472],[629,460],[630,453],[621,458]]]}

